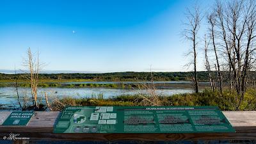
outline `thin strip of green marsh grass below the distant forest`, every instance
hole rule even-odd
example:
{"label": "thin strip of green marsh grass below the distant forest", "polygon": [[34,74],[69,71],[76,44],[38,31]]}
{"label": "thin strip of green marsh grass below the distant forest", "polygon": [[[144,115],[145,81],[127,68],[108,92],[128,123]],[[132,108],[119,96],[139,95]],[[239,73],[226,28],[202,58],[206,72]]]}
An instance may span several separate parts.
{"label": "thin strip of green marsh grass below the distant forest", "polygon": [[[150,85],[150,81],[70,81],[70,82],[40,82],[38,88],[117,88],[117,89],[136,89],[146,85]],[[175,89],[175,88],[191,88],[191,81],[154,81],[154,86],[157,89]],[[199,82],[200,88],[208,88],[210,85],[208,82]],[[0,88],[4,87],[15,87],[15,83],[2,82]],[[19,82],[17,83],[19,88],[29,88],[30,83]]]}

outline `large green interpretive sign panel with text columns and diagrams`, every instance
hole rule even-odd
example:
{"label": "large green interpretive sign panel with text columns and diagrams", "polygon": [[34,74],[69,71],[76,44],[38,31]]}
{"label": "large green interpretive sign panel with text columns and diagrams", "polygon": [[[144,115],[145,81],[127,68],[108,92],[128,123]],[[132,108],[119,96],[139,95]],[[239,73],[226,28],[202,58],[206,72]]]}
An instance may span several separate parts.
{"label": "large green interpretive sign panel with text columns and diagrams", "polygon": [[236,132],[218,107],[88,106],[63,109],[54,133]]}

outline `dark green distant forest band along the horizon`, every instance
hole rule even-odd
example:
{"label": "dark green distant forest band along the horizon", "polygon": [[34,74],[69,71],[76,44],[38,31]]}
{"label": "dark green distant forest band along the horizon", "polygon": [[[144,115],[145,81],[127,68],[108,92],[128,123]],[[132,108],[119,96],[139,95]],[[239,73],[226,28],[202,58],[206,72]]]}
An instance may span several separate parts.
{"label": "dark green distant forest band along the horizon", "polygon": [[[152,72],[154,81],[191,81],[193,72]],[[26,74],[0,74],[0,80],[26,80]],[[113,72],[99,74],[39,74],[39,79],[88,81],[150,81],[150,72]],[[198,72],[199,81],[208,81],[208,72]]]}

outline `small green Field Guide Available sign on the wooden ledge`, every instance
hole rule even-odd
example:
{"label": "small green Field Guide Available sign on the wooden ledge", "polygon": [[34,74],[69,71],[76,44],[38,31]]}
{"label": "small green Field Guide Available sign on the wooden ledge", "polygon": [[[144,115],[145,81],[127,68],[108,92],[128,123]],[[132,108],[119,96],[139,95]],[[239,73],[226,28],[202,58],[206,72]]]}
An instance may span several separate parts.
{"label": "small green Field Guide Available sign on the wooden ledge", "polygon": [[33,115],[33,111],[13,111],[3,125],[27,125]]}

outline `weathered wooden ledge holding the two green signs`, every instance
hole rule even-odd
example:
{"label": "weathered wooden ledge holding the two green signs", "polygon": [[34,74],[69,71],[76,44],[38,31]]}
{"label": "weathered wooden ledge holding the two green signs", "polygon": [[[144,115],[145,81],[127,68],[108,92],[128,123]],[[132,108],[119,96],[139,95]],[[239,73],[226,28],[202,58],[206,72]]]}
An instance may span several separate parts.
{"label": "weathered wooden ledge holding the two green signs", "polygon": [[[8,111],[2,111],[8,115]],[[256,111],[223,111],[236,133],[197,133],[197,134],[52,134],[56,118],[60,112],[35,112],[27,126],[0,125],[0,138],[13,134],[28,137],[30,140],[256,140]]]}

